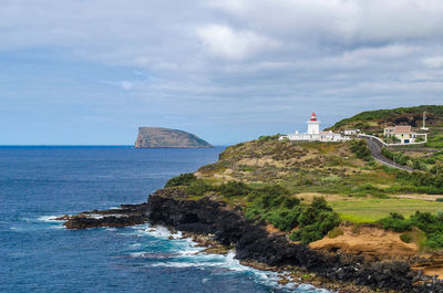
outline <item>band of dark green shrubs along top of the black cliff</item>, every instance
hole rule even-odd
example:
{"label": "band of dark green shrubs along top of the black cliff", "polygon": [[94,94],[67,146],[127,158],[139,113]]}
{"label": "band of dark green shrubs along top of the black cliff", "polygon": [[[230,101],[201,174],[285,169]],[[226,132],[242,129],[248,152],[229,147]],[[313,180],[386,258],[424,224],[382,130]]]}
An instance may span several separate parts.
{"label": "band of dark green shrubs along top of the black cliff", "polygon": [[298,227],[290,238],[306,244],[323,238],[340,223],[339,214],[332,211],[324,198],[316,197],[310,205],[303,205],[279,185],[253,188],[244,182],[228,181],[215,186],[193,175],[183,174],[172,178],[166,186],[186,186],[189,199],[202,198],[208,191],[217,192],[227,200],[244,198],[247,219],[266,221],[285,232]]}

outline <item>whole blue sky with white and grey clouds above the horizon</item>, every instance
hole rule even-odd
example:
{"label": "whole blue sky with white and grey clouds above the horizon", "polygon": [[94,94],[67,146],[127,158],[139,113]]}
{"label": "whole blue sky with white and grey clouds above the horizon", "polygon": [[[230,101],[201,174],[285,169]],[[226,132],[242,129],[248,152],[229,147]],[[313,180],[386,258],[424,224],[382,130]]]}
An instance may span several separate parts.
{"label": "whole blue sky with white and grey clouds above the horizon", "polygon": [[0,145],[214,145],[443,104],[441,0],[2,0]]}

